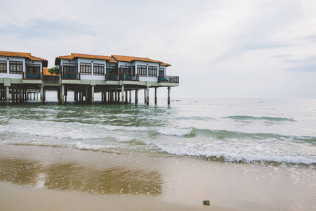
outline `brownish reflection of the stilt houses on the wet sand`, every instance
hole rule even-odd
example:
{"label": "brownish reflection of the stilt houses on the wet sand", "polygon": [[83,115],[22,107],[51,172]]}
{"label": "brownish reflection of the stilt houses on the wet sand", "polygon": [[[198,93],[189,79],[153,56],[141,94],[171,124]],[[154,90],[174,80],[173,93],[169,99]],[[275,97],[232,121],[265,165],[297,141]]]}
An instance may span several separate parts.
{"label": "brownish reflection of the stilt houses on the wet sand", "polygon": [[0,159],[0,181],[64,191],[95,194],[162,193],[162,174],[124,167],[93,169],[77,163],[44,165],[21,159]]}

